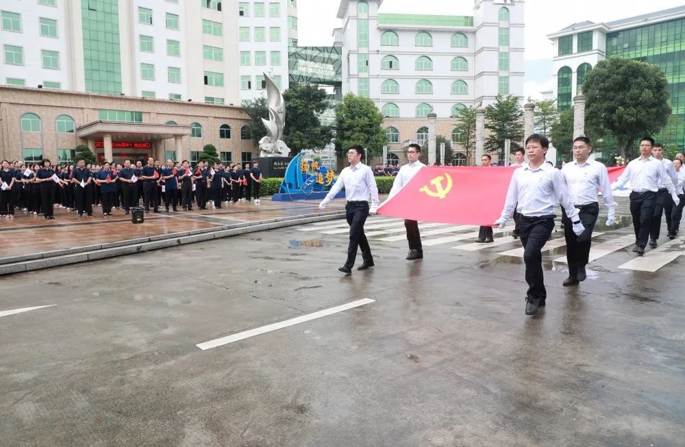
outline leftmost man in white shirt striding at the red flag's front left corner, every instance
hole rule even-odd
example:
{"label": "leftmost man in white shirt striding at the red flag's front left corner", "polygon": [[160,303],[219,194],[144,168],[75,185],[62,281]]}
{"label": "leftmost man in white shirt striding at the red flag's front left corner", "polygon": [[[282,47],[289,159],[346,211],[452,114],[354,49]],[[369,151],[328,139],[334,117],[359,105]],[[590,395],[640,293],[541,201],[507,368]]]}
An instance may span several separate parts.
{"label": "leftmost man in white shirt striding at the red flag's front left corner", "polygon": [[[350,164],[338,175],[338,179],[333,188],[328,192],[325,199],[321,201],[319,208],[324,209],[343,186],[345,187],[345,216],[349,224],[349,246],[347,247],[347,261],[345,265],[338,268],[340,272],[351,274],[354,260],[357,257],[357,248],[362,249],[362,259],[364,263],[357,270],[366,270],[373,267],[373,257],[369,241],[364,235],[364,222],[369,214],[376,214],[378,209],[378,187],[373,178],[371,168],[362,163],[362,146],[351,146],[347,149],[347,162]],[[371,208],[369,208],[369,196],[371,196]]]}

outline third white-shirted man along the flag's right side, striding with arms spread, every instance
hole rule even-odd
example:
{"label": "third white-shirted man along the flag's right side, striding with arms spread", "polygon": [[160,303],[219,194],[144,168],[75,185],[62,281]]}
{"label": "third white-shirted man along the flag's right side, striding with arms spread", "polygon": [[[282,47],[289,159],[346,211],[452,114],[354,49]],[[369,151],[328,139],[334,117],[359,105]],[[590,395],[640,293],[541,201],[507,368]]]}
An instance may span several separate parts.
{"label": "third white-shirted man along the flag's right side, striding with arms spread", "polygon": [[671,194],[675,205],[680,202],[675,194],[673,181],[667,174],[664,164],[651,156],[653,146],[654,140],[650,137],[640,140],[640,157],[628,163],[621,177],[611,185],[611,189],[616,190],[630,181],[630,188],[632,188],[630,214],[633,216],[633,229],[635,230],[633,251],[640,256],[645,254],[660,183],[663,182],[662,184]]}

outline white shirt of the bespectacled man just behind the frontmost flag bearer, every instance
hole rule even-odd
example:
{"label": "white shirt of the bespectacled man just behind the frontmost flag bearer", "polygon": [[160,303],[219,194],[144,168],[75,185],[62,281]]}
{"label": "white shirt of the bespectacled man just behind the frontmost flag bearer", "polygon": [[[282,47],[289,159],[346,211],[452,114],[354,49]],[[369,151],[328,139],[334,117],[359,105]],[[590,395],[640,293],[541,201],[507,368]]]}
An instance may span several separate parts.
{"label": "white shirt of the bespectacled man just behind the frontmost flag bearer", "polygon": [[611,182],[606,166],[594,160],[586,160],[578,164],[577,160],[564,164],[561,173],[566,179],[571,202],[575,205],[588,205],[597,202],[597,191],[601,189],[604,204],[609,209],[616,208],[614,196],[611,193]]}

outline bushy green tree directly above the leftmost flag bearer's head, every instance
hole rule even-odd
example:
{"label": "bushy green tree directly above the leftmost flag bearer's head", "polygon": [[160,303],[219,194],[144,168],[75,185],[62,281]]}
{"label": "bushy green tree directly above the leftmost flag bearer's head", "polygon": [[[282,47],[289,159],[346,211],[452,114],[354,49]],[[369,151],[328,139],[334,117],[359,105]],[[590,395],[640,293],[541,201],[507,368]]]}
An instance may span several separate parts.
{"label": "bushy green tree directly above the leftmost flag bearer's head", "polygon": [[383,146],[388,143],[385,130],[382,129],[383,115],[378,107],[368,98],[348,93],[336,107],[336,153],[343,155],[349,146],[360,144],[371,159],[383,153]]}

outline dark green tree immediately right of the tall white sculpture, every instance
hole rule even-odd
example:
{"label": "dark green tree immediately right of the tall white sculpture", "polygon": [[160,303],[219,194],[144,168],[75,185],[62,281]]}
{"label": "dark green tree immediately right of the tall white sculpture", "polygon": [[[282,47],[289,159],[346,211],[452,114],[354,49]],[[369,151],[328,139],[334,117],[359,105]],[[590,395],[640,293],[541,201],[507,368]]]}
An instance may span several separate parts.
{"label": "dark green tree immediately right of the tall white sculpture", "polygon": [[319,120],[328,107],[327,97],[325,90],[308,84],[292,84],[283,92],[286,127],[282,139],[293,155],[301,149],[321,149],[331,142],[331,129]]}

